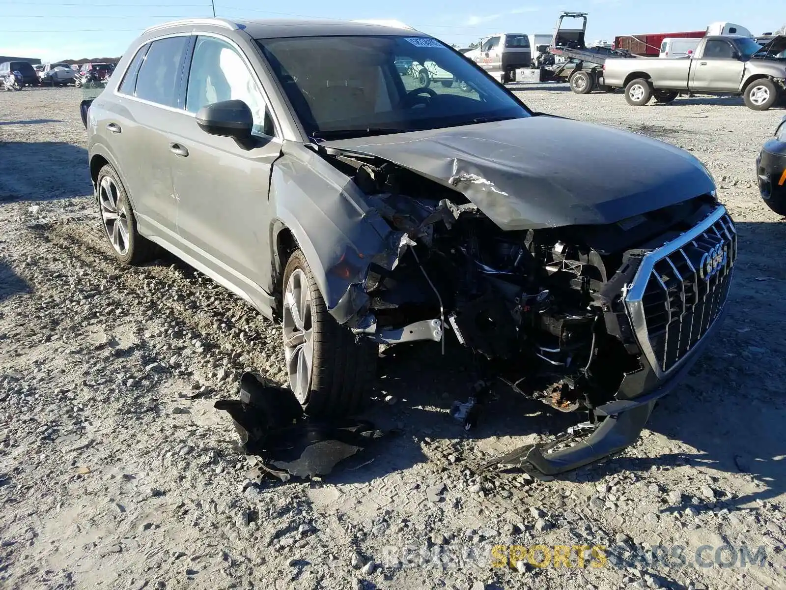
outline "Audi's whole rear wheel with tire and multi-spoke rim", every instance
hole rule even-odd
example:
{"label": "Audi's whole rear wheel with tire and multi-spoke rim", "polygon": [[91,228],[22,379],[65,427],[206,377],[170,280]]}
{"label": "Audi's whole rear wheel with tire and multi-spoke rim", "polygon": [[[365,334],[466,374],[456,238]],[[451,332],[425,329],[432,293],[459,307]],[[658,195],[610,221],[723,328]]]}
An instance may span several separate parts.
{"label": "Audi's whole rear wheel with tire and multi-spoke rim", "polygon": [[101,224],[112,255],[121,263],[130,265],[150,260],[154,247],[139,234],[131,201],[112,164],[106,164],[98,172],[96,186]]}

